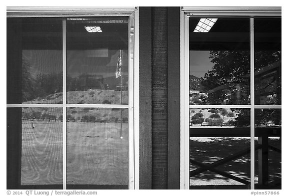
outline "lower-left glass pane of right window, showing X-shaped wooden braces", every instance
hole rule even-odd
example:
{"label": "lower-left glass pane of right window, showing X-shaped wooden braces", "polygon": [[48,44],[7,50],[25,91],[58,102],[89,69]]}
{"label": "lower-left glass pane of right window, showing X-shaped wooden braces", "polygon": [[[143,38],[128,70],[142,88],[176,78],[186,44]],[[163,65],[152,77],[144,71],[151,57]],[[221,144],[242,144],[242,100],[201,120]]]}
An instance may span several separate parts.
{"label": "lower-left glass pane of right window, showing X-shaped wooden braces", "polygon": [[190,189],[249,189],[250,109],[190,109]]}

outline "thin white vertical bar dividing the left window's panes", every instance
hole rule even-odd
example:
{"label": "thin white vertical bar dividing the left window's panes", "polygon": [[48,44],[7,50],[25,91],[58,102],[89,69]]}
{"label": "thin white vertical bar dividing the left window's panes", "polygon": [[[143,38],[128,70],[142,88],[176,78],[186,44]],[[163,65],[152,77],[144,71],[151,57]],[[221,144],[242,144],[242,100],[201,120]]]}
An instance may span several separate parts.
{"label": "thin white vertical bar dividing the left window's panes", "polygon": [[63,190],[66,190],[66,19],[62,21],[63,27]]}

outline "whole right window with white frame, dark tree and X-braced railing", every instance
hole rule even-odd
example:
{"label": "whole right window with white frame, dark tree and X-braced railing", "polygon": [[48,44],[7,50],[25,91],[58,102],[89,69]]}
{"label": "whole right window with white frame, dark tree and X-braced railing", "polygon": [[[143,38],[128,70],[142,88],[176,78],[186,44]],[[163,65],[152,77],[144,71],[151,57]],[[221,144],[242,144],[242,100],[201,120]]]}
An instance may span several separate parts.
{"label": "whole right window with white frame, dark tree and X-braced railing", "polygon": [[181,188],[281,189],[280,9],[182,10]]}

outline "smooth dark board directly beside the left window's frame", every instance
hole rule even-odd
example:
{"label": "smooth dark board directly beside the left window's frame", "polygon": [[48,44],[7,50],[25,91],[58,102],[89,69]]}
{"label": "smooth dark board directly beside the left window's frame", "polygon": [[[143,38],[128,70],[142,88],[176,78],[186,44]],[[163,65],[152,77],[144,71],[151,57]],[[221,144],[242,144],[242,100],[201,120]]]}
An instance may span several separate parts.
{"label": "smooth dark board directly beside the left window's frame", "polygon": [[139,189],[152,189],[151,7],[139,7]]}

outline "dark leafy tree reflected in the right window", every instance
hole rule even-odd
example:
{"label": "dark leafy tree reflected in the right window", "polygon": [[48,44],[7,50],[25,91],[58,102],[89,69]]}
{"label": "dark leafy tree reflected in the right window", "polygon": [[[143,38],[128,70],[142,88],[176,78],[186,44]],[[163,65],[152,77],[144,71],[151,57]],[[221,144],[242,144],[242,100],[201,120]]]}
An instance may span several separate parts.
{"label": "dark leafy tree reflected in the right window", "polygon": [[[214,89],[224,84],[233,83],[234,80],[244,77],[250,72],[249,51],[211,50],[209,58],[214,66],[201,78],[201,86],[204,91]],[[260,71],[264,67],[279,60],[281,60],[281,51],[256,50],[254,52],[255,71]],[[274,79],[276,80],[277,78]],[[239,109],[237,112],[238,116],[235,118],[235,126],[248,126],[250,119],[249,115],[246,114],[247,111]],[[259,119],[255,123],[266,123],[269,120],[279,123],[280,118],[278,118],[278,116],[279,115],[275,114],[273,110],[265,110],[262,111]]]}

